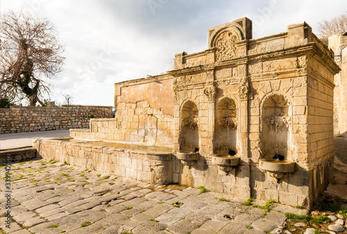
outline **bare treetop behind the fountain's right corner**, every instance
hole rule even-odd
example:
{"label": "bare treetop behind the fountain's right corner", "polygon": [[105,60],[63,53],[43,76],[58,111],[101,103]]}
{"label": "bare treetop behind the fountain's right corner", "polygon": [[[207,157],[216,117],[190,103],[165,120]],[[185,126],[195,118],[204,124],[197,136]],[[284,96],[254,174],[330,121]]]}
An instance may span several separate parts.
{"label": "bare treetop behind the fountain's right corner", "polygon": [[328,42],[328,38],[338,33],[344,33],[347,31],[347,12],[334,17],[330,20],[324,19],[319,22],[319,37],[323,42]]}

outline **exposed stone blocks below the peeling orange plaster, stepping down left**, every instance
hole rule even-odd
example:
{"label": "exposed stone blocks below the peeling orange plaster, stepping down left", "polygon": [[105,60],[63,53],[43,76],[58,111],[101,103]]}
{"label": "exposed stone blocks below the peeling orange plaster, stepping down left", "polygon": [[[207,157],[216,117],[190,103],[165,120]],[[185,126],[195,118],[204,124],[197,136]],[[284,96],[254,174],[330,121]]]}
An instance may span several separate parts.
{"label": "exposed stone blocks below the peeling orange plaster, stepping down left", "polygon": [[173,125],[173,117],[151,108],[147,101],[118,103],[115,119],[92,119],[89,130],[74,129],[70,136],[172,146]]}

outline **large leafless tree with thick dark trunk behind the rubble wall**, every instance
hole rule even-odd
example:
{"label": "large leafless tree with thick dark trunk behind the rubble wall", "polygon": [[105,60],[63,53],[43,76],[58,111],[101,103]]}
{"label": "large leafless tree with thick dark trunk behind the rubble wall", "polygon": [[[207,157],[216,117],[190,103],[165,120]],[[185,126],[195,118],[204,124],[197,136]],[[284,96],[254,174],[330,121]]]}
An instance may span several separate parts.
{"label": "large leafless tree with thick dark trunk behind the rubble wall", "polygon": [[62,72],[64,47],[48,19],[8,11],[0,25],[0,99],[20,101],[30,106],[49,94],[47,78]]}

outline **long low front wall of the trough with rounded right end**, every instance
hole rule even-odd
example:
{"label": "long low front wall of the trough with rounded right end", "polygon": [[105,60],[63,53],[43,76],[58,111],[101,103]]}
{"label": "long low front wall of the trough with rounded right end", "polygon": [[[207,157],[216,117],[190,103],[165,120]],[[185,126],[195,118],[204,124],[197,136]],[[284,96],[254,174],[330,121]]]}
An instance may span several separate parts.
{"label": "long low front wall of the trough with rounded right end", "polygon": [[121,149],[94,144],[35,140],[33,148],[47,160],[115,174],[151,184],[171,183],[171,153]]}

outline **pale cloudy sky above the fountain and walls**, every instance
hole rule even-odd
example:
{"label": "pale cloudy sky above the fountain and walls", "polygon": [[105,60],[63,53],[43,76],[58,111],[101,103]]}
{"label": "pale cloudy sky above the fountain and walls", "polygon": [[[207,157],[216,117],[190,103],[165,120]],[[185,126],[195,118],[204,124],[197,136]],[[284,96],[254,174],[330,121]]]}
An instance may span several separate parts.
{"label": "pale cloudy sky above the fountain and walls", "polygon": [[51,101],[114,106],[114,83],[161,74],[175,53],[208,49],[207,29],[242,17],[253,38],[319,22],[347,10],[346,0],[0,0],[0,11],[49,19],[65,44],[64,71],[49,80]]}

